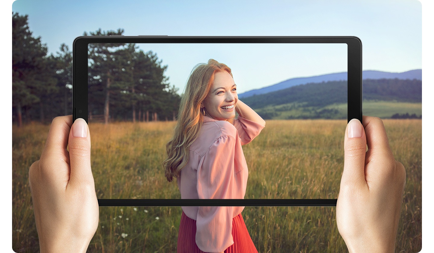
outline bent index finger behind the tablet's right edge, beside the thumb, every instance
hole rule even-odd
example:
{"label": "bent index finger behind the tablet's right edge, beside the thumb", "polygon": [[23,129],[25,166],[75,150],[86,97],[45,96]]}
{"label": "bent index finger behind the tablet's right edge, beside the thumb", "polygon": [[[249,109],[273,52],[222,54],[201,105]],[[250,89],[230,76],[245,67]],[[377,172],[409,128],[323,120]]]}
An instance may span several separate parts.
{"label": "bent index finger behind the tablet's right edge, beside the thumb", "polygon": [[365,126],[369,152],[393,158],[383,121],[378,117],[363,116],[363,126]]}

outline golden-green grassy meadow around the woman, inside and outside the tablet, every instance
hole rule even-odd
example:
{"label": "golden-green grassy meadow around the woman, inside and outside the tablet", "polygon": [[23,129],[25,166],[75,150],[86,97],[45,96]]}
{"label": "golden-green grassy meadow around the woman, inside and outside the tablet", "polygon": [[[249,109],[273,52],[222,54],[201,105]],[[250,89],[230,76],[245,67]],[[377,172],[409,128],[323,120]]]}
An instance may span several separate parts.
{"label": "golden-green grassy meadow around the woman, inside and outside the tablet", "polygon": [[[384,120],[407,183],[395,252],[421,250],[421,120]],[[173,122],[91,123],[98,198],[179,198],[161,169]],[[336,198],[346,120],[268,120],[243,146],[246,198]],[[28,168],[39,159],[49,126],[13,126],[13,250],[39,251]],[[259,252],[345,252],[335,207],[246,207]],[[88,252],[176,252],[181,207],[100,207]]]}

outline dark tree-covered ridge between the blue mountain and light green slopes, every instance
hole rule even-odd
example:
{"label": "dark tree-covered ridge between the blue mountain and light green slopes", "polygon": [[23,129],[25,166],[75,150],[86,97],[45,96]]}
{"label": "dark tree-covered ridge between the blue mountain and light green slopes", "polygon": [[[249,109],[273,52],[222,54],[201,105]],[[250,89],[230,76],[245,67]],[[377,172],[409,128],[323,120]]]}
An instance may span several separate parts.
{"label": "dark tree-covered ridge between the blue mountain and light green slopes", "polygon": [[[302,103],[303,107],[325,107],[333,103],[347,103],[347,81],[307,83],[284,90],[244,98],[253,109],[286,103]],[[422,102],[422,81],[402,79],[363,80],[363,100]]]}

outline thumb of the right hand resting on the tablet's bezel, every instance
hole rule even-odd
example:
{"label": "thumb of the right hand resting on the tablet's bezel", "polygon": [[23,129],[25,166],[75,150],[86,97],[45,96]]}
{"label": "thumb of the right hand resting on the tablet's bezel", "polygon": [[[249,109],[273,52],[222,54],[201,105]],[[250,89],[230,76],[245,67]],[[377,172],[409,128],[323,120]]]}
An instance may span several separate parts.
{"label": "thumb of the right hand resting on the tablet's bezel", "polygon": [[344,172],[342,173],[341,184],[366,184],[366,135],[362,123],[357,119],[350,120],[347,125],[344,150]]}

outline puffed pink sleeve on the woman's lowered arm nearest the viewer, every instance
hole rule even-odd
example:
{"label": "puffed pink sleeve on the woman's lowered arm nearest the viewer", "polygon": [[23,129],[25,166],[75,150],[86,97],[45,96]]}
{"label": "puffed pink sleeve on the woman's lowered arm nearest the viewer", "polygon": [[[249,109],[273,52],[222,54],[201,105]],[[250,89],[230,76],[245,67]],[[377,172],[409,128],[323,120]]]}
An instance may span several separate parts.
{"label": "puffed pink sleeve on the woman's lowered arm nearest the viewer", "polygon": [[[233,136],[223,135],[201,159],[197,170],[199,199],[233,199]],[[222,252],[233,244],[233,207],[200,206],[196,220],[196,244],[204,252]]]}

